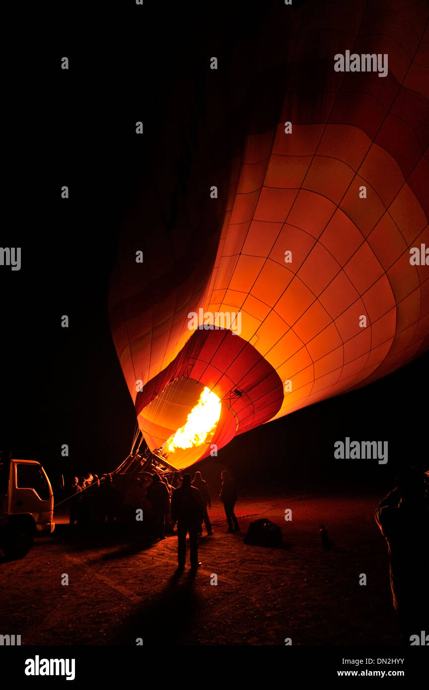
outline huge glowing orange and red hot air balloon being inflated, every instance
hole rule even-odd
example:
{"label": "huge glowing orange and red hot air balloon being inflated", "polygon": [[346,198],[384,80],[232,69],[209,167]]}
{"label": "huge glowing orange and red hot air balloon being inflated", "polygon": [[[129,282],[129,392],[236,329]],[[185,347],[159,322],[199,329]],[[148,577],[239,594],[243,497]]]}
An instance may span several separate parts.
{"label": "huge glowing orange and red hot air balloon being inflated", "polygon": [[276,12],[217,109],[210,69],[203,107],[191,83],[112,274],[139,428],[177,469],[428,349],[428,8]]}

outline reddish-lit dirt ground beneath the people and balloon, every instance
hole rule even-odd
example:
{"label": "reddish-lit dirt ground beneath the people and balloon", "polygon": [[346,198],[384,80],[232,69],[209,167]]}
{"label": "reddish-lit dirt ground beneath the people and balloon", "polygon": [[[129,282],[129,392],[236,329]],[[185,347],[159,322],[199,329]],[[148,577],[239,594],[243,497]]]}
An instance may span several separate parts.
{"label": "reddish-lit dirt ground beneath the people and balloon", "polygon": [[[386,542],[372,517],[378,500],[248,498],[237,504],[234,534],[217,503],[215,533],[199,542],[202,566],[180,577],[175,535],[147,548],[118,535],[79,540],[58,515],[54,534],[26,558],[0,557],[1,631],[23,645],[401,644]],[[283,548],[243,544],[257,517],[281,525]],[[321,523],[332,551],[321,546]]]}

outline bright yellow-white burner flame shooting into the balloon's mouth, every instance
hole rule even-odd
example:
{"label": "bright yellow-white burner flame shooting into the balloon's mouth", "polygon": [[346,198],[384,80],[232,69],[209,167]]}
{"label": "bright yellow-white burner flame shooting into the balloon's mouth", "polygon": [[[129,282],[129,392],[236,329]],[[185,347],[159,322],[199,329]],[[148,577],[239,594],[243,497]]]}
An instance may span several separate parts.
{"label": "bright yellow-white burner flame shooting into the balloon's mouth", "polygon": [[221,401],[216,393],[205,386],[199,396],[199,401],[188,414],[186,424],[183,424],[176,433],[166,442],[167,450],[174,453],[176,448],[192,448],[201,446],[211,433],[215,432],[217,422],[221,416]]}

